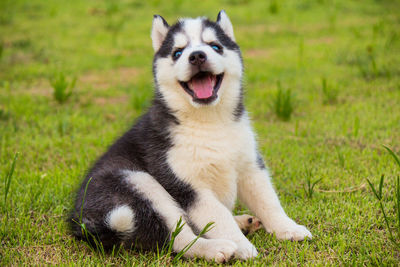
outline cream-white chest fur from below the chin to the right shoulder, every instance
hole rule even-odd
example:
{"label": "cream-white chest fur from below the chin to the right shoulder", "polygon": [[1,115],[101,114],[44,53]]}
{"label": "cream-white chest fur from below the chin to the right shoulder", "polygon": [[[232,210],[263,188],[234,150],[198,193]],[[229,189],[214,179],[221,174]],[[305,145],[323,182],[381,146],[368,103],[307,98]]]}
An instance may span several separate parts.
{"label": "cream-white chest fur from below the chin to the right shoulder", "polygon": [[210,115],[209,120],[179,116],[181,123],[173,129],[174,146],[168,151],[167,161],[178,177],[196,189],[212,190],[232,209],[237,168],[243,159],[255,159],[255,141],[247,117],[236,122],[231,114]]}

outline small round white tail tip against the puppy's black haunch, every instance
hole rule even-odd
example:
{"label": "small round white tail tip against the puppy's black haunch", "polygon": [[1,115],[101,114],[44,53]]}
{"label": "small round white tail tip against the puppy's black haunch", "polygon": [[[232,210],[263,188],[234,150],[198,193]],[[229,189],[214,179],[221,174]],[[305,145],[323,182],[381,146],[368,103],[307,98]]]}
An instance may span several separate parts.
{"label": "small round white tail tip against the puppy's black haunch", "polygon": [[108,213],[106,223],[119,233],[129,234],[135,230],[134,219],[132,209],[127,205],[122,205]]}

